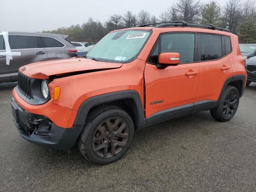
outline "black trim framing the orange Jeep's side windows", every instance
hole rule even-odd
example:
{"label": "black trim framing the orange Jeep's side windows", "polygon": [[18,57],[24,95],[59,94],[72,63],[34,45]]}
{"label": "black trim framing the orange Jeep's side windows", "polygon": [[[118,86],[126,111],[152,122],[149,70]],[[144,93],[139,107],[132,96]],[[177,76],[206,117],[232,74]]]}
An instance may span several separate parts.
{"label": "black trim framing the orange Jeep's side windows", "polygon": [[[200,38],[199,38],[199,34],[219,35],[219,36],[221,36],[221,37],[222,37],[222,36],[227,36],[228,38],[230,38],[230,36],[228,36],[228,35],[221,35],[221,34],[215,34],[215,33],[175,31],[175,32],[164,32],[164,33],[160,33],[159,36],[158,36],[158,38],[156,39],[156,42],[158,41],[158,39],[160,39],[160,36],[161,36],[162,34],[171,34],[171,33],[194,33],[194,34],[195,34],[194,59],[195,59],[195,54],[197,55],[197,58],[198,58],[198,59],[200,58],[200,54],[199,54],[199,52],[200,52],[199,45],[201,45],[201,41],[200,41]],[[196,36],[197,36],[197,37],[196,37]],[[221,39],[222,39],[222,38],[221,38]],[[156,42],[155,42],[155,44],[156,44]],[[155,46],[155,44],[154,44],[154,46]],[[222,44],[223,44],[223,43],[222,43]],[[231,51],[230,51],[228,54],[226,53],[225,55],[223,55],[222,57],[220,57],[220,58],[218,58],[218,59],[204,60],[204,61],[193,61],[193,62],[184,62],[184,63],[179,63],[179,65],[220,60],[220,59],[222,59],[222,58],[228,56],[229,54],[231,54],[231,53],[233,52],[233,49],[232,49],[233,46],[232,46],[231,38],[230,38],[230,45],[231,45]],[[154,46],[153,46],[152,49],[150,50],[150,53],[148,54],[148,57],[150,56],[150,54],[151,54],[151,52],[152,52]],[[196,46],[197,46],[197,47],[196,47]],[[224,46],[225,46],[224,49],[225,49],[225,51],[226,51],[226,45],[224,44]],[[160,46],[159,46],[159,47],[160,47]],[[222,47],[223,47],[223,45],[222,45]],[[159,48],[159,49],[160,49],[160,48]],[[197,52],[197,53],[196,53],[196,52]],[[158,50],[158,56],[159,56],[159,50]],[[148,60],[148,58],[147,58],[147,60]],[[158,64],[155,64],[155,63],[152,63],[152,62],[148,62],[147,60],[146,60],[146,63],[148,63],[148,64],[155,65],[155,66],[158,65]],[[158,61],[157,61],[157,62],[158,62]]]}

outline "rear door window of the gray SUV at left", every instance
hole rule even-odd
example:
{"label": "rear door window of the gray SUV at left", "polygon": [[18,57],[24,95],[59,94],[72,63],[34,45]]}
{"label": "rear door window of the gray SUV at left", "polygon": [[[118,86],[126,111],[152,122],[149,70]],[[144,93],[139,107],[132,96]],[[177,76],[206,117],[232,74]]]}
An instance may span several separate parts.
{"label": "rear door window of the gray SUV at left", "polygon": [[42,42],[38,36],[9,35],[11,49],[33,49],[42,48]]}

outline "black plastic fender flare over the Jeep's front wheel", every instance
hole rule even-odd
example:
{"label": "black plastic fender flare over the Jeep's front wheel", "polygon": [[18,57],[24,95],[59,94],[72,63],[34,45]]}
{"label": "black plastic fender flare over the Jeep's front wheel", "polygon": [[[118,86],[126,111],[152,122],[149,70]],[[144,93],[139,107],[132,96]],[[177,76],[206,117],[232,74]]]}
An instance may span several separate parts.
{"label": "black plastic fender flare over the Jeep's front wheel", "polygon": [[104,104],[106,102],[111,102],[115,100],[122,100],[122,99],[133,99],[137,108],[138,112],[138,127],[146,126],[146,118],[144,117],[144,109],[142,106],[142,101],[140,99],[140,95],[135,90],[125,90],[125,91],[117,91],[111,92],[107,94],[102,94],[98,96],[94,96],[91,98],[86,99],[80,105],[78,112],[76,114],[76,118],[74,121],[74,125],[84,124],[88,112],[94,107],[99,104]]}

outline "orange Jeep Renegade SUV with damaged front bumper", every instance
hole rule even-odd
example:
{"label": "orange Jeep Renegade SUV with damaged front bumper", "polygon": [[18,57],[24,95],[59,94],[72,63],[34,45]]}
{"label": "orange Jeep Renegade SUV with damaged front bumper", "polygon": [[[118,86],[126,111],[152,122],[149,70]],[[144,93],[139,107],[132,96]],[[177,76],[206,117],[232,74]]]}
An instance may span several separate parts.
{"label": "orange Jeep Renegade SUV with damaged front bumper", "polygon": [[77,143],[87,160],[107,164],[139,127],[205,110],[230,120],[245,85],[236,35],[164,22],[110,32],[86,58],[21,67],[12,114],[29,142],[64,151]]}

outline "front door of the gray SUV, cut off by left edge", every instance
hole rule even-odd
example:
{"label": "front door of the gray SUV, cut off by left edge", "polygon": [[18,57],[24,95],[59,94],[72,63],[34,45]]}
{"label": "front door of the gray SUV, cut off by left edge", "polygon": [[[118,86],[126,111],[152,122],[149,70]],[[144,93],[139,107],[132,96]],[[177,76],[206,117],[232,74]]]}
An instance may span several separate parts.
{"label": "front door of the gray SUV, cut off by left edge", "polygon": [[[3,35],[0,35],[0,53],[5,52],[5,44]],[[6,56],[0,55],[0,82],[10,81],[10,69],[6,65]]]}

